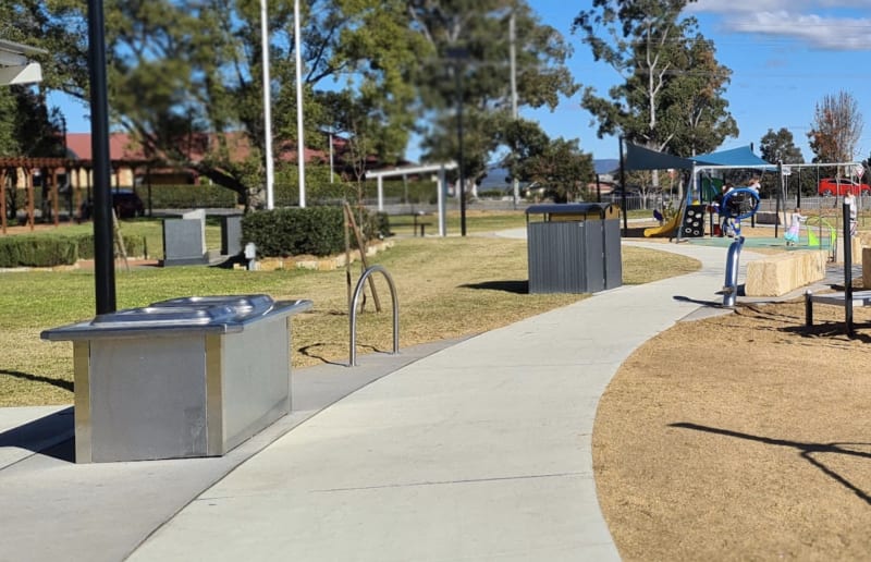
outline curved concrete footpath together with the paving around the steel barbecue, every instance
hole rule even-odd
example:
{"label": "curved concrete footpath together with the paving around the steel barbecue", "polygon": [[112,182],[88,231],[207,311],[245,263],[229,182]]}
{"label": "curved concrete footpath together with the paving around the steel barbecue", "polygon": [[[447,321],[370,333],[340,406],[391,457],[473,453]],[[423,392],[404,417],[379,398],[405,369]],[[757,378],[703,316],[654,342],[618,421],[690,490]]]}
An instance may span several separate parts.
{"label": "curved concrete footpath together with the paving around the steel barbecue", "polygon": [[[618,560],[592,473],[599,398],[641,343],[717,310],[725,266],[722,248],[625,243],[703,267],[398,365],[294,371],[295,412],[221,459],[74,465],[69,433],[24,447],[0,462],[0,560]],[[69,410],[45,419],[69,431]],[[26,441],[3,419],[0,461]]]}

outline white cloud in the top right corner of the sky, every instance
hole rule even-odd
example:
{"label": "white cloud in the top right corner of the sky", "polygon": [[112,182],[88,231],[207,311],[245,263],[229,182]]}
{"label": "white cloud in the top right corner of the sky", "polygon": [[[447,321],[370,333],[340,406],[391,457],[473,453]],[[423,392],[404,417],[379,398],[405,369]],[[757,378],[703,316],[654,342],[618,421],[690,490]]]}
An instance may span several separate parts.
{"label": "white cloud in the top right corner of the sky", "polygon": [[[818,49],[871,50],[871,19],[845,11],[859,5],[868,0],[699,0],[687,11],[719,15],[726,32],[792,38]],[[839,9],[839,15],[811,12],[821,9]]]}

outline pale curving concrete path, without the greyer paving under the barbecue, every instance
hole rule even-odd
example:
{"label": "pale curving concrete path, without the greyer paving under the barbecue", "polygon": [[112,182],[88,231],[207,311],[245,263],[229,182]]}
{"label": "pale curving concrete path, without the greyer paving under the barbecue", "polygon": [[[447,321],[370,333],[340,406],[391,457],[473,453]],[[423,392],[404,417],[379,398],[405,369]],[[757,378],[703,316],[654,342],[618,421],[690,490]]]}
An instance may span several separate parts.
{"label": "pale curving concrete path, without the greyer paving under the barbecue", "polygon": [[701,272],[600,293],[360,389],[187,505],[147,560],[617,560],[590,454],[599,396],[641,343],[722,288]]}

